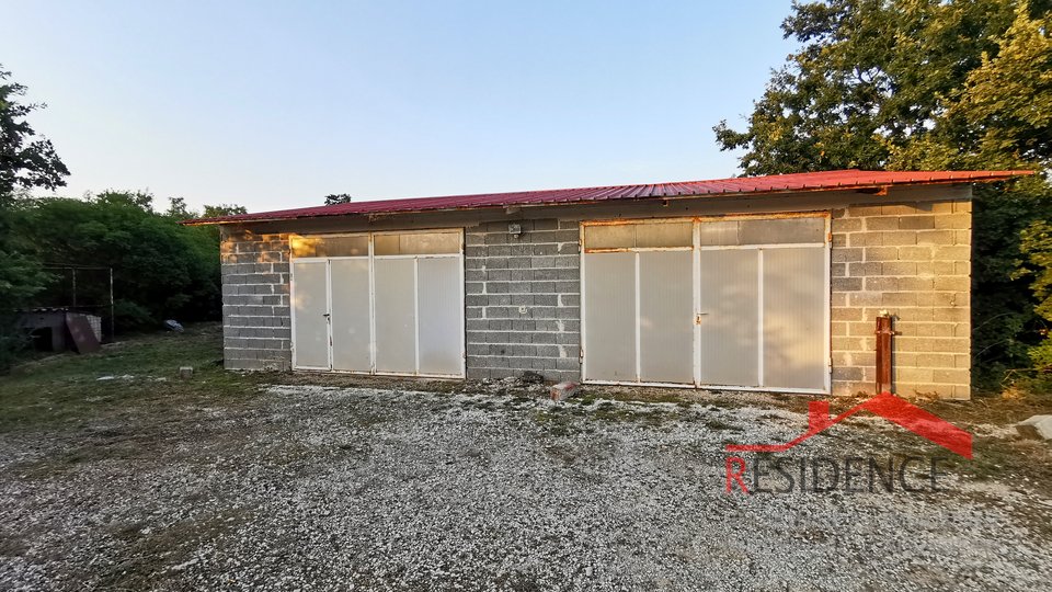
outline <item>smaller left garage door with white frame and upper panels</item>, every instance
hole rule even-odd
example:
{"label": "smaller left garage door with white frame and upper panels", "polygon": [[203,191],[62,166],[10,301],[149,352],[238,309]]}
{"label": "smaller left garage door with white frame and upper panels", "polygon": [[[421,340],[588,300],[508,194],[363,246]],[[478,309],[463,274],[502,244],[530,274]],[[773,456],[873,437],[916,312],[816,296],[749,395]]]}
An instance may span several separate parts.
{"label": "smaller left garage door with white frame and upper panels", "polygon": [[293,237],[293,366],[464,376],[460,230]]}

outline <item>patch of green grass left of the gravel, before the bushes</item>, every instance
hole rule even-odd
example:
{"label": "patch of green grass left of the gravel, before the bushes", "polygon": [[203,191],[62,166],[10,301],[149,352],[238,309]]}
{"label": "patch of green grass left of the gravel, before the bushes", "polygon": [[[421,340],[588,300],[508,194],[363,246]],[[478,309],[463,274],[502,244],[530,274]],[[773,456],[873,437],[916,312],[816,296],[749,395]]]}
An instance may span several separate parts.
{"label": "patch of green grass left of the gravel, before the bushes", "polygon": [[[221,327],[199,323],[182,333],[136,337],[93,354],[66,353],[30,362],[0,376],[0,432],[137,410],[243,401],[256,396],[259,385],[271,377],[226,372],[221,360]],[[180,366],[193,366],[193,377],[180,379]],[[99,379],[104,376],[114,378]]]}

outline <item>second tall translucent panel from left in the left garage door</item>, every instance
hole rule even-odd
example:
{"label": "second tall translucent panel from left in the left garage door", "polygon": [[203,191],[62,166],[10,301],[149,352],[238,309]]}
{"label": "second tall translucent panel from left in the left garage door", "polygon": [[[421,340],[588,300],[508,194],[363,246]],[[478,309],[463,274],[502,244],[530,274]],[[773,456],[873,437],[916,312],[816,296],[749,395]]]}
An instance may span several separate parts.
{"label": "second tall translucent panel from left in the left garage door", "polygon": [[369,260],[330,261],[332,286],[332,368],[368,372]]}

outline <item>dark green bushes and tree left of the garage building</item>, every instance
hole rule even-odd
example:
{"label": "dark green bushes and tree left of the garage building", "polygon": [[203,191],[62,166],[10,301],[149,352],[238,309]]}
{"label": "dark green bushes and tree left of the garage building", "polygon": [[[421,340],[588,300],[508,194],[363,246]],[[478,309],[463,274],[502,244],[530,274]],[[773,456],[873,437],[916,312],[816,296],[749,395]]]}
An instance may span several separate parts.
{"label": "dark green bushes and tree left of the garage building", "polygon": [[[33,198],[56,190],[69,170],[52,143],[26,121],[38,104],[20,98],[25,87],[8,82],[0,68],[0,372],[25,345],[14,327],[19,309],[68,306],[68,281],[56,267],[113,267],[115,325],[121,330],[217,319],[220,312],[219,235],[179,223],[202,214],[182,198],[155,209],[145,192],[106,191],[84,198]],[[243,214],[243,207],[205,206],[203,215]],[[82,281],[80,303],[108,300],[108,274]],[[82,280],[84,276],[82,275]]]}

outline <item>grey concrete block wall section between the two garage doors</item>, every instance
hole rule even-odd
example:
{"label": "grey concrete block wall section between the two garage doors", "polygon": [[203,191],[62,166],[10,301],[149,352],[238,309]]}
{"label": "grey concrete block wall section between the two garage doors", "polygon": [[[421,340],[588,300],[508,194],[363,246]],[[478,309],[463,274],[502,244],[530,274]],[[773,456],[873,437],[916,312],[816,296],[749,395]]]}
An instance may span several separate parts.
{"label": "grey concrete block wall section between the two garage doors", "polygon": [[[487,223],[465,234],[468,378],[535,371],[581,377],[581,266],[576,221]],[[521,308],[522,307],[522,308]]]}

